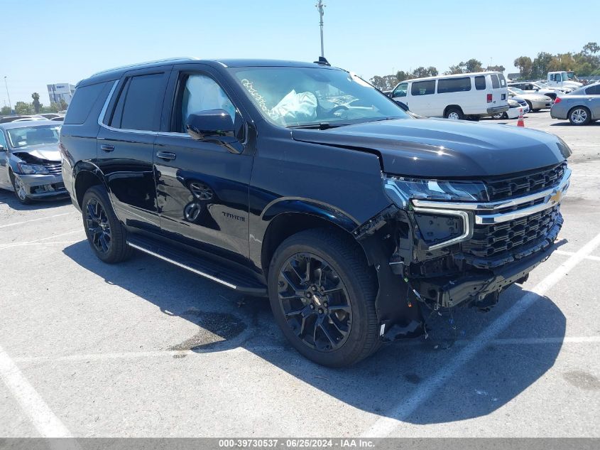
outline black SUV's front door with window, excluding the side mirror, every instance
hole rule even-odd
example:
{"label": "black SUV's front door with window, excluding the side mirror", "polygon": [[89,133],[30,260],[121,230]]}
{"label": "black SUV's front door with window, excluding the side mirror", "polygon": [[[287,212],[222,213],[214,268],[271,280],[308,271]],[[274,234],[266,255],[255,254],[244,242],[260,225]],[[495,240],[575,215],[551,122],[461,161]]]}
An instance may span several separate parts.
{"label": "black SUV's front door with window, excluding the side mirror", "polygon": [[[247,257],[250,149],[246,126],[231,92],[198,65],[173,70],[165,105],[173,108],[158,134],[154,167],[160,227],[164,235],[212,253]],[[171,95],[169,95],[171,92]],[[239,147],[196,141],[185,132],[191,113],[224,109],[239,130]],[[239,151],[239,153],[238,153]]]}

